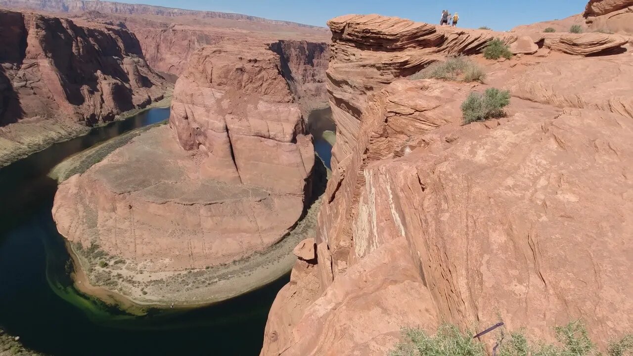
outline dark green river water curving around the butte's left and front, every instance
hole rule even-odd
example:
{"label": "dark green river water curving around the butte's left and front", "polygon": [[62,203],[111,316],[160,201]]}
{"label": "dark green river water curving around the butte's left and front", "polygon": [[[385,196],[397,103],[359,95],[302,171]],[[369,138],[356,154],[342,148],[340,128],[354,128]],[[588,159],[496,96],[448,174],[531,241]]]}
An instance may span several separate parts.
{"label": "dark green river water curving around the butte's left and front", "polygon": [[265,288],[204,308],[127,315],[82,296],[51,207],[46,174],[64,158],[169,116],[152,109],[55,144],[0,169],[0,326],[50,355],[258,355],[270,305],[285,276]]}

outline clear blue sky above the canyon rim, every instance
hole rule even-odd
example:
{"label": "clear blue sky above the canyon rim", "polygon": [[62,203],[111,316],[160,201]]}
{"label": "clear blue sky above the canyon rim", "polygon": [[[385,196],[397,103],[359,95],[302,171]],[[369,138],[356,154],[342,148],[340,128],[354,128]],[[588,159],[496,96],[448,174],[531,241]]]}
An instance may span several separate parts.
{"label": "clear blue sky above the canyon rim", "polygon": [[[116,0],[115,0],[116,1]],[[122,1],[122,0],[118,0]],[[443,9],[460,14],[460,26],[510,30],[517,25],[581,13],[587,0],[123,0],[125,3],[211,10],[325,26],[332,17],[379,13],[436,23]]]}

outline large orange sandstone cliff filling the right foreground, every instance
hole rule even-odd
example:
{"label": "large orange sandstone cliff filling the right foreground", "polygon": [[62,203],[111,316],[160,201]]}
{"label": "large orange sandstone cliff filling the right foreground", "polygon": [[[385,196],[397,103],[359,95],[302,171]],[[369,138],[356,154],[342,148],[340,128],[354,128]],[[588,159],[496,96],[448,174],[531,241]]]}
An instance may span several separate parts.
{"label": "large orange sandstone cliff filling the right foreground", "polygon": [[[551,340],[582,318],[601,346],[630,332],[627,40],[535,35],[538,56],[486,61],[487,41],[516,35],[377,15],[328,25],[332,177],[261,355],[385,355],[401,327],[444,321],[501,318]],[[487,84],[406,79],[453,54]],[[592,89],[605,75],[615,98]],[[463,100],[490,84],[513,94],[506,117],[461,125]]]}

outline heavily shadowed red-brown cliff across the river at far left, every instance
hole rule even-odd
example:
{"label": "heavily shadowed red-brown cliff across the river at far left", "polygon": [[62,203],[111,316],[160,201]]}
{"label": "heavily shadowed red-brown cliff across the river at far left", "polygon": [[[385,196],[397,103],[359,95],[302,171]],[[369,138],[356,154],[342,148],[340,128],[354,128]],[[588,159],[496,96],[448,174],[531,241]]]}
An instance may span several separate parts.
{"label": "heavily shadowed red-brown cliff across the river at far left", "polygon": [[0,32],[1,125],[34,117],[93,125],[169,87],[121,27],[2,10]]}

